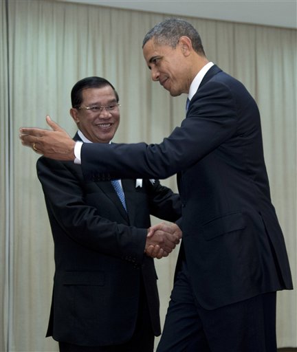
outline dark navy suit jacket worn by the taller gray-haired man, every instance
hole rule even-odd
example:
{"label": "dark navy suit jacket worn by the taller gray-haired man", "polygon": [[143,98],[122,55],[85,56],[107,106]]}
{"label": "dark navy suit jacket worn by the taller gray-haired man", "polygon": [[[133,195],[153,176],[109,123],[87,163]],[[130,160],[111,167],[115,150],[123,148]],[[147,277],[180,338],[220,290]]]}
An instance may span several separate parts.
{"label": "dark navy suit jacket worn by the taller gray-haired man", "polygon": [[162,179],[178,172],[179,255],[184,252],[195,296],[206,309],[292,288],[259,110],[245,87],[219,67],[204,76],[186,119],[162,143],[83,144],[81,153],[86,179]]}

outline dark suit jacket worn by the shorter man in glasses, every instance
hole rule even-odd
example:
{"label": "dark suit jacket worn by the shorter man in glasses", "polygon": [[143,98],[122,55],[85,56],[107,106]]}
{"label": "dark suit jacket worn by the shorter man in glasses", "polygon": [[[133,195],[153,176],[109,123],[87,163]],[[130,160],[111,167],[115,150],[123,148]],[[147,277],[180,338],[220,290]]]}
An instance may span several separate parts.
{"label": "dark suit jacket worn by the shorter man in glasses", "polygon": [[[77,139],[76,135],[76,139]],[[179,196],[155,181],[122,179],[128,214],[111,182],[85,182],[80,165],[41,157],[54,237],[56,272],[47,336],[101,346],[129,340],[144,282],[155,336],[160,334],[157,275],[144,254],[150,214],[175,221]]]}

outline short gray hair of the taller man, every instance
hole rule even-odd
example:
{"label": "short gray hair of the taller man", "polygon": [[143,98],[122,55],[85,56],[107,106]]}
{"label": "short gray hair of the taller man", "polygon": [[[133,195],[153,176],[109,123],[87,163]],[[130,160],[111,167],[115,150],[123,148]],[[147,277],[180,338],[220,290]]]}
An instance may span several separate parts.
{"label": "short gray hair of the taller man", "polygon": [[157,23],[144,36],[142,47],[151,39],[160,45],[170,45],[175,48],[181,36],[188,36],[192,41],[192,47],[200,55],[205,56],[199,33],[195,28],[183,19],[166,19]]}

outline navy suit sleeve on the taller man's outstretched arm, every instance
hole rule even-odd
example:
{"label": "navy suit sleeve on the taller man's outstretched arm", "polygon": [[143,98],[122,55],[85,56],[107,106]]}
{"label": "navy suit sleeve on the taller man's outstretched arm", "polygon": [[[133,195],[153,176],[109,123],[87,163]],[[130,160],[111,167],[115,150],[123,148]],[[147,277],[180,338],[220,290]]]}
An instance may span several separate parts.
{"label": "navy suit sleeve on the taller man's outstretched arm", "polygon": [[164,179],[186,170],[236,131],[234,96],[212,81],[197,91],[187,118],[160,144],[86,144],[81,151],[86,179]]}

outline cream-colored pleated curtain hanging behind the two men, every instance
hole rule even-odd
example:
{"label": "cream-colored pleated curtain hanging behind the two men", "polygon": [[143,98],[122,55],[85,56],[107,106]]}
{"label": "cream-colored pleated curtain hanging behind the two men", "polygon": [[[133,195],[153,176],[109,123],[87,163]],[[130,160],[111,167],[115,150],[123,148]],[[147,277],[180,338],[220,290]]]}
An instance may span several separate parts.
{"label": "cream-colored pleated curtain hanging behind the two men", "polygon": [[[0,1],[1,351],[58,351],[45,339],[54,256],[38,155],[19,142],[20,126],[45,127],[49,113],[72,135],[70,90],[103,76],[120,94],[117,142],[160,142],[184,118],[185,96],[152,83],[144,34],[166,16],[56,1]],[[272,199],[296,287],[296,31],[188,18],[206,54],[250,90],[262,116]],[[175,177],[163,182],[176,190]],[[155,222],[156,220],[153,219]],[[177,251],[157,261],[162,322]],[[278,294],[278,346],[296,347],[296,291]]]}

